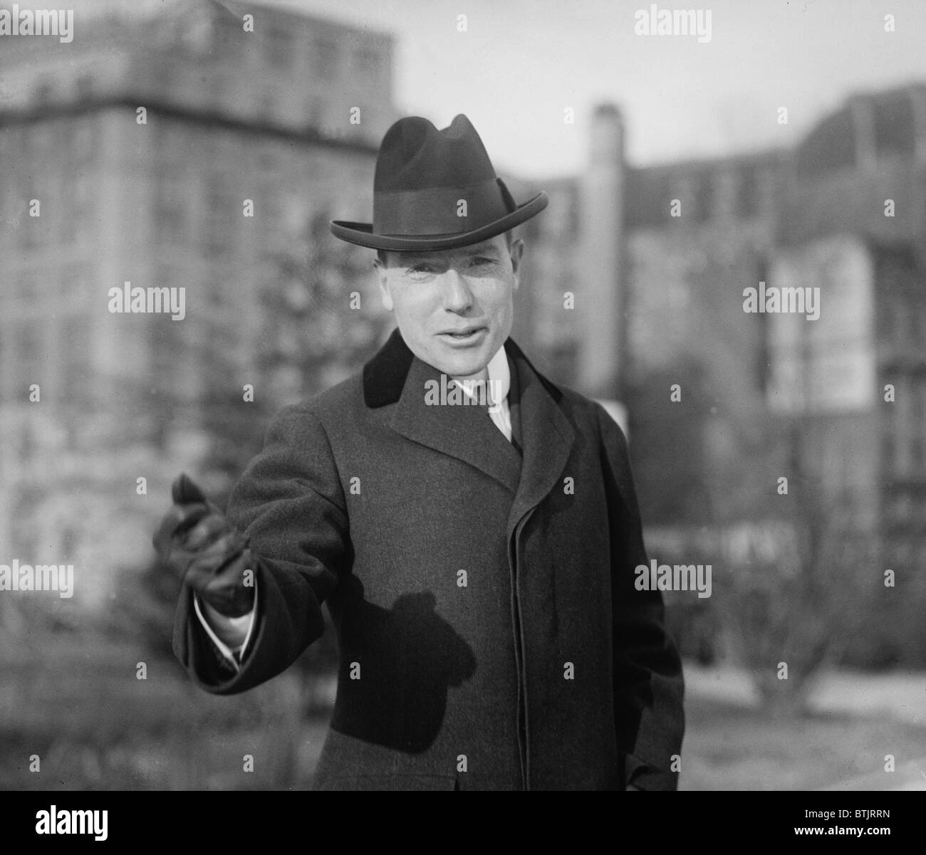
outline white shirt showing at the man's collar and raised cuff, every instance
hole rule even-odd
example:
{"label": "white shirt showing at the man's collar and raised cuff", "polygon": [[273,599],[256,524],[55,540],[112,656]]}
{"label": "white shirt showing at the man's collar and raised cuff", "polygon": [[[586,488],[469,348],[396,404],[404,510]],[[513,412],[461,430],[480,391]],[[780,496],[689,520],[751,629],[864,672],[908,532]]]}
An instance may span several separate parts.
{"label": "white shirt showing at the man's collar and raised cuff", "polygon": [[[491,398],[489,416],[495,427],[505,434],[505,439],[510,442],[511,411],[508,408],[508,391],[511,389],[511,371],[508,368],[504,345],[495,351],[487,367],[489,397]],[[453,381],[470,399],[476,394],[477,389],[472,381],[460,381],[457,378],[453,378]],[[244,651],[247,649],[251,640],[251,632],[254,629],[254,616],[257,614],[257,585],[254,589],[254,608],[241,617],[228,617],[221,614],[207,602],[200,603],[196,595],[194,595],[193,604],[196,615],[213,644],[234,666],[235,671],[240,671],[241,660],[244,658]]]}

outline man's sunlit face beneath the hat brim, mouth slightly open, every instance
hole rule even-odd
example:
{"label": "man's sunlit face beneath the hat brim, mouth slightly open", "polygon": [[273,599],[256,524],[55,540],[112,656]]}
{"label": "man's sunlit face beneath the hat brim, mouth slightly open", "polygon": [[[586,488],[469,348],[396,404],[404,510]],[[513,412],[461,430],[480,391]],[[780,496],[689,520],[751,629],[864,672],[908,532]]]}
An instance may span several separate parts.
{"label": "man's sunlit face beneath the hat brim, mouth slightly open", "polygon": [[511,332],[524,244],[504,235],[454,250],[376,261],[382,304],[412,353],[444,374],[476,378]]}

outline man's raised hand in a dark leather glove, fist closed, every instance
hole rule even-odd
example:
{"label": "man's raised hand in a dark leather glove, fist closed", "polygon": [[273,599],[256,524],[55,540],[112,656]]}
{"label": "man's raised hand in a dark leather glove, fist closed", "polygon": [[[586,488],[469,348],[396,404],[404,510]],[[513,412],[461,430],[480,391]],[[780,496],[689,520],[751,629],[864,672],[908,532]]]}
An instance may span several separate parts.
{"label": "man's raised hand in a dark leather glove, fist closed", "polygon": [[153,539],[157,554],[217,612],[247,614],[255,580],[247,538],[186,475],[173,482],[171,494],[173,507]]}

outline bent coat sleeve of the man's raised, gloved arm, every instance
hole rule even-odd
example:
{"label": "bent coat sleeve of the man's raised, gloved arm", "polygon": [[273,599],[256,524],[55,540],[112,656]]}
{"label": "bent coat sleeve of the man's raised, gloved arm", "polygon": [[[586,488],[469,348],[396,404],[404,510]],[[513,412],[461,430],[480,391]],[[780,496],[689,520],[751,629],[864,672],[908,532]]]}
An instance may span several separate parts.
{"label": "bent coat sleeve of the man's raised, gloved arm", "polygon": [[173,648],[194,681],[219,695],[280,674],[324,630],[321,604],[349,549],[346,504],[324,427],[306,404],[271,422],[262,452],[235,484],[226,515],[249,538],[260,592],[253,638],[235,673],[195,620],[181,590]]}

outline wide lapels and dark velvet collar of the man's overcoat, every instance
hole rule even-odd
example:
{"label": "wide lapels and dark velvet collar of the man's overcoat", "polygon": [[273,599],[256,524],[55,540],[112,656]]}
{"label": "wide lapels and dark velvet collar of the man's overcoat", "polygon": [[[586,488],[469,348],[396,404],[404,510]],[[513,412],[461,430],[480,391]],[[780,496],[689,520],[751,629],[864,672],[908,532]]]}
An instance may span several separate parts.
{"label": "wide lapels and dark velvet collar of the man's overcoat", "polygon": [[[512,388],[513,427],[518,420],[523,458],[483,407],[429,406],[426,383],[441,373],[408,349],[398,329],[364,366],[364,400],[369,407],[395,403],[391,425],[407,439],[463,460],[514,494],[509,531],[557,485],[575,433],[557,401],[561,393],[542,378],[514,341],[505,342]],[[517,376],[515,376],[517,372]],[[517,432],[516,432],[517,435]]]}

